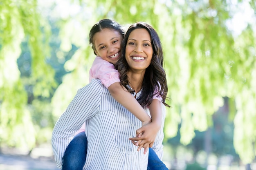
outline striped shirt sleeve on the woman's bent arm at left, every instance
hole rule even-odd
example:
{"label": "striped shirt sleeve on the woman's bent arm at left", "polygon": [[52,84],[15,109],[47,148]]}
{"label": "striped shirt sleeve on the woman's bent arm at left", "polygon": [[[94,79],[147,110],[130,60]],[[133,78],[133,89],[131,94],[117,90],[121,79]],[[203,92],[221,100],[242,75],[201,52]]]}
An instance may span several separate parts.
{"label": "striped shirt sleeve on the woman's bent arm at left", "polygon": [[52,132],[52,149],[57,167],[61,168],[64,152],[86,119],[99,113],[103,85],[95,79],[76,93],[65,112],[59,117]]}

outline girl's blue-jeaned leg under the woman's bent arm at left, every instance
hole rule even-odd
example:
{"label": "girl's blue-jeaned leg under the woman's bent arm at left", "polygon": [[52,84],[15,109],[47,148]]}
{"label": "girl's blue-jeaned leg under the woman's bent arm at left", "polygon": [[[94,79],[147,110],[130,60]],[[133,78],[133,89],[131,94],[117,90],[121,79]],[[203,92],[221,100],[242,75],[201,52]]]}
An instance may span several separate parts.
{"label": "girl's blue-jeaned leg under the woman's bent arm at left", "polygon": [[62,170],[83,170],[87,154],[87,137],[80,132],[70,142],[62,158]]}

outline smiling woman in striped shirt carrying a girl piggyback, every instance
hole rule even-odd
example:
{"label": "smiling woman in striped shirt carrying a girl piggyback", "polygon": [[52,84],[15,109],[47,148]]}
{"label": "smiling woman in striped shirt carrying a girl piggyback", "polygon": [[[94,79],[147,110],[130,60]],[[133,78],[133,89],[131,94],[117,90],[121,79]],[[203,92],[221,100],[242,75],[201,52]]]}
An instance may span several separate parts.
{"label": "smiling woman in striped shirt carrying a girl piggyback", "polygon": [[[141,24],[143,25],[144,23]],[[148,26],[147,24],[145,25]],[[162,53],[162,48],[160,41],[155,40],[159,39],[158,36],[155,37],[153,33],[150,38],[150,33],[154,32],[154,30],[149,29],[148,31],[145,28],[138,29],[140,30],[138,31],[139,35],[146,35],[142,37],[144,39],[146,38],[145,40],[137,39],[137,29],[130,31],[132,33],[131,36],[133,36],[132,40],[135,40],[134,42],[130,42],[130,33],[127,34],[129,44],[135,45],[139,42],[139,46],[135,45],[135,52],[131,58],[121,56],[122,58],[125,57],[128,61],[126,67],[127,76],[125,76],[124,81],[121,79],[121,82],[124,82],[124,85],[132,87],[135,90],[135,97],[139,99],[143,99],[143,96],[139,97],[140,93],[146,94],[148,92],[148,97],[146,97],[147,102],[142,102],[144,106],[147,106],[150,104],[152,100],[151,96],[154,93],[154,91],[151,91],[151,88],[154,89],[155,86],[161,87],[159,89],[161,89],[160,95],[163,98],[163,103],[165,103],[167,88],[166,86],[162,86],[163,77],[153,77],[155,80],[151,81],[152,83],[148,79],[152,78],[150,77],[152,74],[148,73],[148,71],[152,72],[153,68],[162,67],[162,55],[158,56],[159,50]],[[141,30],[143,31],[141,32]],[[150,52],[150,46],[152,53]],[[141,50],[144,47],[147,48],[146,53]],[[146,70],[148,66],[149,69]],[[117,66],[117,68],[120,67]],[[159,70],[163,71],[162,68],[159,68]],[[147,80],[145,78],[143,80],[144,75]],[[145,109],[148,111],[148,108]],[[85,122],[85,133],[88,137],[89,146],[87,160],[84,166],[85,169],[145,170],[147,168],[148,155],[144,155],[141,151],[138,152],[137,146],[132,145],[128,141],[128,137],[135,136],[135,130],[141,126],[141,122],[121,106],[121,104],[116,102],[98,79],[93,79],[90,84],[79,89],[67,110],[61,115],[54,127],[52,146],[54,157],[59,166],[61,165],[63,153],[74,136],[74,132],[81,127],[83,122]],[[161,150],[162,140],[160,139],[158,141],[161,141],[160,144],[154,144],[154,146]]]}

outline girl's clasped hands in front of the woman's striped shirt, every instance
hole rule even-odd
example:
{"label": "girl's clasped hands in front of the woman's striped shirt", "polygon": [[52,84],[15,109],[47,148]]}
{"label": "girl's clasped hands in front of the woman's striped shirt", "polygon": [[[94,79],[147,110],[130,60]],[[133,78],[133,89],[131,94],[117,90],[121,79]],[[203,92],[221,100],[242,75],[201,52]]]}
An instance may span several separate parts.
{"label": "girl's clasped hands in front of the woman's striped shirt", "polygon": [[136,130],[136,137],[129,138],[129,140],[138,146],[138,151],[144,148],[144,154],[146,154],[148,148],[153,146],[159,129],[159,125],[154,122],[142,124],[142,127]]}

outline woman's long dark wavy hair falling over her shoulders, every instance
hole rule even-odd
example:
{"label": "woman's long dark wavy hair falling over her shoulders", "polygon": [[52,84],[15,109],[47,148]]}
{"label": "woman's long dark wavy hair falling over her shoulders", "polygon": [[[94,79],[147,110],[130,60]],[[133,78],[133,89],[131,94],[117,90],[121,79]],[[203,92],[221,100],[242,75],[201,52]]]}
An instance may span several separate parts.
{"label": "woman's long dark wavy hair falling over her shoulders", "polygon": [[160,42],[159,36],[152,26],[145,22],[137,22],[132,24],[126,31],[124,40],[121,43],[121,57],[115,65],[115,68],[119,72],[120,84],[126,87],[130,93],[134,93],[134,90],[128,88],[128,77],[127,72],[129,69],[128,63],[126,62],[126,44],[128,37],[132,31],[135,29],[146,29],[151,38],[151,44],[153,48],[153,56],[150,65],[146,68],[146,72],[143,79],[141,94],[137,101],[141,106],[147,106],[151,104],[153,96],[155,95],[155,88],[159,90],[159,94],[162,97],[162,103],[165,106],[170,107],[165,103],[168,87],[166,82],[166,74],[163,68],[164,56],[162,50],[162,44]]}

